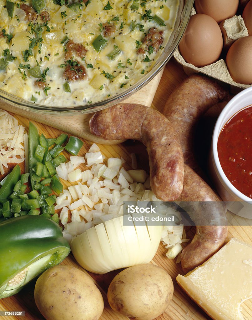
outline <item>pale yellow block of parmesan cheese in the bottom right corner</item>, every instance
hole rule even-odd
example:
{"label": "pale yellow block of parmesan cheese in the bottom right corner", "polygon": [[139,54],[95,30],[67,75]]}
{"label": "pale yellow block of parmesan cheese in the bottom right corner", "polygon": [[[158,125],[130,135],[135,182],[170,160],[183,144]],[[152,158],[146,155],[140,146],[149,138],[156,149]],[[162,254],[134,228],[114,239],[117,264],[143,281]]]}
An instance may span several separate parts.
{"label": "pale yellow block of parmesan cheese in the bottom right corner", "polygon": [[214,320],[244,320],[240,305],[252,298],[252,245],[232,238],[205,263],[176,280]]}

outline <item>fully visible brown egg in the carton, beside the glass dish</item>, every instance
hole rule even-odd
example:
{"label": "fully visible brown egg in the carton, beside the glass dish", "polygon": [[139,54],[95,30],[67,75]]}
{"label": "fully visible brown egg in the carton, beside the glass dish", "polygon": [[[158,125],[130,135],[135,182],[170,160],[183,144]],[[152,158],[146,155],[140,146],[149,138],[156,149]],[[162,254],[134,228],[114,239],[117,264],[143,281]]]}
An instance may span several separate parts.
{"label": "fully visible brown egg in the carton, beside the glass dish", "polygon": [[221,29],[206,14],[191,16],[179,50],[184,60],[195,67],[204,67],[218,60],[223,47]]}

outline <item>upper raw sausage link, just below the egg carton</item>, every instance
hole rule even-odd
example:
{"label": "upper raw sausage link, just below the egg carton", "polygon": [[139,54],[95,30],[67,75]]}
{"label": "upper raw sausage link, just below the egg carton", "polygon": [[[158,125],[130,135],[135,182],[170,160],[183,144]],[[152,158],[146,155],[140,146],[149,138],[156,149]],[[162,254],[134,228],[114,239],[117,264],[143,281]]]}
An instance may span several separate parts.
{"label": "upper raw sausage link, just below the egg carton", "polygon": [[169,96],[163,114],[172,122],[178,134],[184,155],[184,163],[198,169],[194,159],[193,135],[199,118],[220,100],[228,91],[214,80],[200,75],[185,79]]}

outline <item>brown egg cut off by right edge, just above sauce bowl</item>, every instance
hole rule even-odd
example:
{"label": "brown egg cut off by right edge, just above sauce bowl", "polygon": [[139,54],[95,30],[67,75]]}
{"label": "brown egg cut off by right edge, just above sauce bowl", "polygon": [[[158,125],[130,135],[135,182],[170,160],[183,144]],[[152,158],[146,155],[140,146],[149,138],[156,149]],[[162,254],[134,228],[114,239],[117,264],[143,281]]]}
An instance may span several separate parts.
{"label": "brown egg cut off by right edge, just above sauce bowl", "polygon": [[240,84],[252,84],[252,36],[236,40],[226,56],[232,79]]}

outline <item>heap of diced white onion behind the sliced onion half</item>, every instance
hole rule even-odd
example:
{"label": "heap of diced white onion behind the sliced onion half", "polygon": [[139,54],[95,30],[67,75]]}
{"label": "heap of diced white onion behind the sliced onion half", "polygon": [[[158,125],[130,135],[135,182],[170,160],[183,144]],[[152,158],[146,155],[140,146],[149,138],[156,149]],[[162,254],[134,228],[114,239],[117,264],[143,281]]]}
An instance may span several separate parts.
{"label": "heap of diced white onion behind the sliced onion half", "polygon": [[[135,157],[131,157],[136,167]],[[85,158],[90,169],[81,171],[77,167],[85,163]],[[144,205],[141,202],[159,201],[160,214],[166,214],[167,210],[175,214],[175,210],[162,205],[150,190],[150,179],[144,170],[126,171],[122,158],[109,158],[107,165],[103,164],[104,156],[96,144],[92,145],[85,158],[71,156],[68,163],[61,163],[56,168],[65,184],[69,185],[66,181],[71,182],[57,197],[55,206],[56,210],[61,209],[63,235],[69,242],[87,229],[123,215],[124,201],[136,201],[141,205]],[[181,243],[188,239],[185,239],[183,225],[163,228],[161,241],[168,249],[167,258],[174,259],[183,249]]]}

